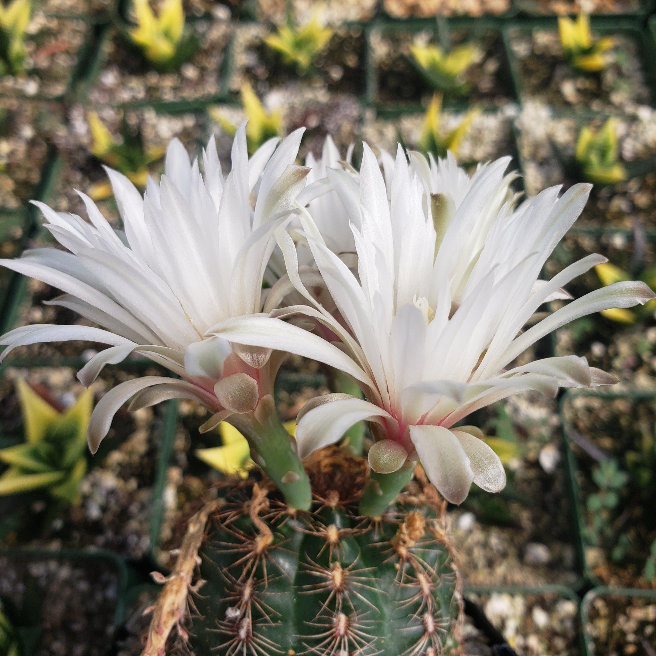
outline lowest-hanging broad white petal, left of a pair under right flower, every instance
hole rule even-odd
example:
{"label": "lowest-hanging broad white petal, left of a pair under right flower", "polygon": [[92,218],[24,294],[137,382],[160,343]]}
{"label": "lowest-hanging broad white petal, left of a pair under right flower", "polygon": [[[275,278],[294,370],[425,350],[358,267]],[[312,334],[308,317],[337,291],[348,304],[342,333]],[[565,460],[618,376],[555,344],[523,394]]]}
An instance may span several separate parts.
{"label": "lowest-hanging broad white petal, left of a pair under right flower", "polygon": [[451,503],[461,504],[469,494],[474,471],[460,440],[443,426],[410,426],[410,438],[417,449],[426,476]]}

